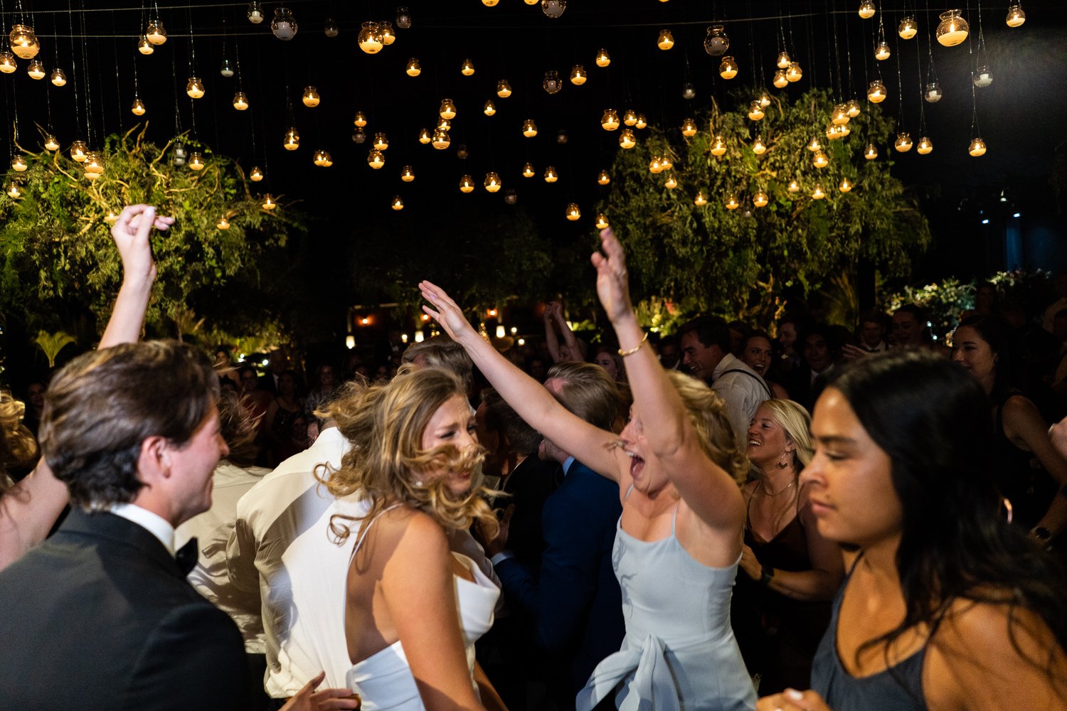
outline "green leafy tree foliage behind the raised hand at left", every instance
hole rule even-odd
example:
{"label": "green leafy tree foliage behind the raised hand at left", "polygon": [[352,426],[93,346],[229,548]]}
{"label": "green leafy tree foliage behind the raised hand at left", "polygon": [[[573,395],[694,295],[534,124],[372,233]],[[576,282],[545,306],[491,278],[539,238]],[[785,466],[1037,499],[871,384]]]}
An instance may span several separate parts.
{"label": "green leafy tree foliage behind the raised hand at left", "polygon": [[[95,181],[62,152],[27,152],[29,169],[9,173],[22,196],[0,195],[0,308],[7,314],[54,328],[83,320],[87,309],[102,328],[122,276],[106,217],[125,205],[155,205],[176,221],[152,238],[158,277],[147,322],[164,332],[173,332],[164,318],[180,321],[197,300],[211,302],[213,290],[300,229],[282,210],[261,209],[233,160],[202,147],[206,168],[174,167],[171,143],[156,146],[134,130],[105,139],[106,169]],[[227,230],[216,227],[223,215]]]}

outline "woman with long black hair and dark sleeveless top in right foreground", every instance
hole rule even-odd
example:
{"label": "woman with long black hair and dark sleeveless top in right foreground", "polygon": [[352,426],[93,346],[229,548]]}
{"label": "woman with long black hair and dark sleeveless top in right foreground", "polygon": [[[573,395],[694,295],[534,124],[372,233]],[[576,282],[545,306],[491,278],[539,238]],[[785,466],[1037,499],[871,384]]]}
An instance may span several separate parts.
{"label": "woman with long black hair and dark sleeveless top in right foreground", "polygon": [[854,552],[813,690],[760,711],[1067,707],[1064,572],[1003,521],[986,402],[922,352],[859,361],[819,397],[801,481]]}

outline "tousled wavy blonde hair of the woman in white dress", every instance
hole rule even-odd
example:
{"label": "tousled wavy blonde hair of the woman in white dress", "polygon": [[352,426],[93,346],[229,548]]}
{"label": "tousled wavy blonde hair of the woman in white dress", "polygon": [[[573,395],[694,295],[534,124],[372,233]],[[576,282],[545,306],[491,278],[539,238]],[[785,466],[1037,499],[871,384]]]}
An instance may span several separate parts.
{"label": "tousled wavy blonde hair of the woman in white dress", "polygon": [[446,531],[478,521],[487,536],[496,535],[496,515],[487,503],[496,491],[478,486],[457,496],[445,476],[423,481],[423,472],[442,469],[476,474],[484,459],[480,447],[467,451],[451,445],[423,449],[430,419],[456,395],[466,398],[463,384],[451,373],[402,366],[389,383],[352,387],[322,411],[337,422],[352,446],[339,469],[316,471],[316,476],[336,497],[360,492],[370,500],[362,519],[343,515],[331,519],[330,532],[336,543],[351,534],[351,526],[344,521],[361,520],[362,535],[378,514],[395,503],[429,514]]}

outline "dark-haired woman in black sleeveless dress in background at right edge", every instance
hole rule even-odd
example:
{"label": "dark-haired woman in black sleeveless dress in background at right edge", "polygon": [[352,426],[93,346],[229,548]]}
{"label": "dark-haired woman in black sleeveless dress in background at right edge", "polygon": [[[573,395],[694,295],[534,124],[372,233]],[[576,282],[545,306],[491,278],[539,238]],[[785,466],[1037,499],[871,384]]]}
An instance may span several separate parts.
{"label": "dark-haired woman in black sleeveless dress in background at right edge", "polygon": [[[1067,460],[1049,440],[1037,407],[1013,387],[1012,332],[1000,319],[964,319],[953,336],[952,359],[971,374],[992,405],[993,475],[1015,523],[1050,540],[1067,529]],[[1035,468],[1037,460],[1040,468]]]}

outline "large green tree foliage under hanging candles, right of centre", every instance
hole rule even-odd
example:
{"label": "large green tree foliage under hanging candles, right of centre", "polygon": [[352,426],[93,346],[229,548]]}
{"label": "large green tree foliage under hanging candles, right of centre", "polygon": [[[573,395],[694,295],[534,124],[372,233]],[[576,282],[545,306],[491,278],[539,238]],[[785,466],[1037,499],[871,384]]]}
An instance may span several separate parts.
{"label": "large green tree foliage under hanging candles, right of centre", "polygon": [[[636,148],[620,150],[600,209],[626,247],[635,300],[691,297],[696,310],[766,322],[782,308],[784,288],[817,289],[861,260],[888,275],[907,274],[910,255],[930,235],[915,199],[889,173],[892,122],[865,106],[848,124],[849,136],[829,141],[832,106],[828,92],[813,90],[794,103],[776,101],[760,122],[744,109],[713,107],[692,138],[650,128]],[[717,134],[728,146],[721,157],[710,152]],[[751,147],[757,135],[767,146],[762,156]],[[813,136],[829,157],[826,168],[812,165]],[[882,147],[877,160],[863,158],[867,142]],[[678,188],[665,187],[665,173],[650,173],[654,156],[671,159]],[[838,190],[843,178],[854,184],[850,193]],[[787,190],[792,180],[799,192]],[[810,197],[816,183],[825,199]],[[761,190],[769,204],[755,208]],[[694,204],[698,191],[707,196],[702,207]],[[727,209],[731,194],[739,209]]]}

